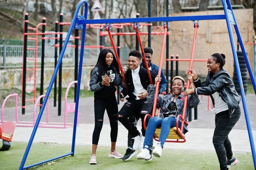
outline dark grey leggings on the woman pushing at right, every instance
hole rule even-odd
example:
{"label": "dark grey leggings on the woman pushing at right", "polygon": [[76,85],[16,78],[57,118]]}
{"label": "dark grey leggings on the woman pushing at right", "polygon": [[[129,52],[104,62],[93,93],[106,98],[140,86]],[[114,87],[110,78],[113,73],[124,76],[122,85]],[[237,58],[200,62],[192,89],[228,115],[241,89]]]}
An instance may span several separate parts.
{"label": "dark grey leggings on the woman pushing at right", "polygon": [[229,117],[229,112],[224,111],[215,115],[215,130],[212,138],[212,143],[218,156],[221,170],[227,170],[227,158],[233,156],[232,147],[228,134],[235,126],[241,115],[240,107],[238,106]]}

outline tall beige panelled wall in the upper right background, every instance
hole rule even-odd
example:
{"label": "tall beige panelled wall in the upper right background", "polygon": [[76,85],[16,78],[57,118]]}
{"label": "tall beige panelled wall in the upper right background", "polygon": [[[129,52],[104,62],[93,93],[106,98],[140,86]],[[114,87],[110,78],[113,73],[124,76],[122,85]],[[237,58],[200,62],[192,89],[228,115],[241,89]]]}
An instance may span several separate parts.
{"label": "tall beige panelled wall in the upper right background", "polygon": [[[224,14],[222,10],[204,12],[186,12],[171,14],[172,16],[191,16],[194,15],[213,15]],[[234,10],[236,21],[241,33],[243,42],[253,42],[253,9]],[[215,52],[226,55],[226,69],[233,76],[233,54],[225,20],[202,20],[199,22],[195,56],[194,58],[207,59]],[[233,28],[233,26],[232,26]],[[144,28],[143,28],[144,29]],[[146,28],[145,28],[146,29]],[[194,27],[192,21],[179,21],[170,23],[169,54],[178,54],[180,58],[189,58],[192,50]],[[146,30],[143,30],[146,31]],[[153,31],[153,30],[152,30]],[[235,29],[233,29],[234,40],[237,41]],[[160,50],[162,47],[163,36],[153,35],[151,47],[154,50],[152,62],[159,64]],[[251,67],[253,67],[253,46],[245,45]],[[165,50],[166,51],[166,50]],[[170,58],[170,57],[169,57]],[[163,69],[166,69],[166,52],[164,55]],[[175,67],[175,63],[174,63]],[[179,62],[179,74],[183,75],[189,68],[189,62]],[[207,75],[207,63],[194,62],[193,69],[199,75]],[[252,68],[253,69],[253,68]],[[249,77],[249,76],[248,76]]]}

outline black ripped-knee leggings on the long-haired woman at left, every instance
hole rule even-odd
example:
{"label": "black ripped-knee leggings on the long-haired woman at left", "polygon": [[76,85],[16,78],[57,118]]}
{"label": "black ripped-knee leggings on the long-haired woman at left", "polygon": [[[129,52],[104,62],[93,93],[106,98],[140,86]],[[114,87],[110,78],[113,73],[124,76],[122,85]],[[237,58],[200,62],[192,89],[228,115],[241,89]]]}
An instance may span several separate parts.
{"label": "black ripped-knee leggings on the long-haired woman at left", "polygon": [[116,142],[118,132],[117,113],[118,106],[116,102],[116,96],[113,94],[108,98],[94,98],[94,117],[95,126],[93,131],[93,144],[98,144],[99,135],[103,126],[103,118],[105,110],[107,110],[108,118],[110,121],[110,138],[111,142]]}

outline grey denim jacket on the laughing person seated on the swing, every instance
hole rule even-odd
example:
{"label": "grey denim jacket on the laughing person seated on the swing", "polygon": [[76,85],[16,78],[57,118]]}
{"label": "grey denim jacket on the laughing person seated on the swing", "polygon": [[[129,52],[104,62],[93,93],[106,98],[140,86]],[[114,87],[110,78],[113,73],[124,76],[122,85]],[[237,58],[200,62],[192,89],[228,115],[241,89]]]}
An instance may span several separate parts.
{"label": "grey denim jacket on the laughing person seated on the swing", "polygon": [[[148,86],[147,103],[152,106],[154,104],[155,90],[156,90],[156,87],[154,85]],[[173,99],[174,99],[174,95],[164,95],[161,97],[157,97],[157,108],[160,108],[160,115],[159,115],[160,118],[164,117],[163,114],[168,114],[170,112],[169,109],[167,109],[167,107],[169,106],[169,104],[171,104]],[[179,97],[176,98],[177,112],[176,112],[175,118],[177,118],[178,115],[182,116],[184,102],[185,102],[185,96],[183,94],[180,94]],[[199,102],[200,100],[197,94],[189,95],[187,108],[186,108],[185,121],[187,121],[188,119],[189,110],[192,109],[193,107],[197,107]],[[179,118],[179,121],[181,121],[181,118]],[[185,133],[189,131],[186,124],[184,124],[184,128],[185,128]]]}

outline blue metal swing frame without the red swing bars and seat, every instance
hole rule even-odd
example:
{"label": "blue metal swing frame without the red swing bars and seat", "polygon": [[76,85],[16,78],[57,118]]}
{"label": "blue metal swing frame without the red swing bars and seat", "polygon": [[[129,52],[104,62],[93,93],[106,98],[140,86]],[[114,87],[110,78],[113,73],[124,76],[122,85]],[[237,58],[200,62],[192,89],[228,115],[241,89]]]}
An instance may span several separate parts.
{"label": "blue metal swing frame without the red swing bars and seat", "polygon": [[[79,13],[79,9],[80,9],[80,7],[83,3],[84,3],[84,16],[80,16],[80,15],[78,15],[78,13]],[[253,78],[253,72],[252,72],[252,69],[250,67],[250,63],[249,63],[247,54],[246,54],[245,49],[244,49],[244,44],[243,44],[243,41],[241,39],[241,35],[240,35],[240,32],[239,32],[238,26],[236,25],[236,19],[235,19],[234,14],[233,14],[233,9],[231,7],[230,0],[222,0],[222,4],[223,4],[223,9],[224,9],[224,14],[221,14],[221,15],[145,17],[145,18],[119,18],[119,19],[87,20],[88,3],[87,3],[86,0],[81,0],[77,5],[76,12],[73,16],[73,20],[71,22],[70,29],[67,33],[67,37],[65,39],[63,48],[61,50],[61,54],[58,58],[57,65],[56,65],[55,70],[53,72],[52,79],[49,83],[49,87],[47,89],[46,96],[44,98],[41,110],[38,114],[38,118],[36,120],[35,127],[32,131],[31,137],[29,139],[29,143],[26,147],[26,151],[25,151],[23,159],[21,161],[19,170],[24,170],[24,169],[27,169],[27,168],[30,168],[30,167],[34,167],[34,166],[37,166],[37,165],[40,165],[40,164],[44,164],[46,162],[49,162],[49,161],[52,161],[52,160],[55,160],[55,159],[58,159],[58,158],[62,158],[62,157],[65,157],[65,156],[69,156],[69,155],[73,156],[74,155],[75,141],[76,141],[76,122],[77,122],[77,112],[78,112],[78,106],[79,106],[79,92],[80,92],[80,85],[81,85],[81,72],[82,72],[82,63],[83,63],[83,54],[84,54],[84,41],[85,41],[85,33],[86,33],[86,24],[93,24],[93,23],[140,23],[140,22],[162,22],[162,21],[171,22],[171,21],[194,21],[194,20],[226,20],[226,22],[227,22],[227,29],[228,29],[228,33],[229,33],[229,37],[230,37],[230,43],[231,43],[231,47],[232,47],[234,63],[235,63],[235,66],[236,66],[236,74],[238,76],[238,81],[239,81],[239,85],[240,85],[240,89],[241,89],[241,98],[242,98],[242,104],[243,104],[243,107],[244,107],[244,115],[245,115],[245,120],[246,120],[246,124],[247,124],[248,135],[249,135],[249,139],[250,139],[251,151],[252,151],[252,155],[253,155],[253,163],[254,163],[254,168],[256,169],[256,153],[255,153],[255,146],[254,146],[254,142],[253,142],[253,134],[252,134],[251,126],[250,126],[250,119],[249,119],[249,115],[248,115],[246,99],[245,99],[245,94],[244,94],[244,86],[242,84],[241,72],[240,72],[239,62],[238,62],[238,58],[237,58],[237,54],[236,54],[236,46],[235,46],[235,42],[234,42],[234,38],[233,38],[231,24],[234,25],[234,28],[236,30],[236,35],[238,37],[239,44],[241,46],[241,50],[242,50],[243,55],[244,55],[244,60],[245,60],[245,63],[246,63],[246,66],[247,66],[247,69],[248,69],[248,72],[249,72],[249,75],[250,75],[250,79],[251,79],[252,84],[253,84],[253,89],[254,89],[255,94],[256,94],[256,83],[255,83],[255,79]],[[35,163],[35,164],[24,167],[25,162],[26,162],[26,158],[29,154],[29,150],[30,150],[32,142],[34,140],[35,133],[36,133],[38,125],[40,123],[41,117],[43,115],[44,108],[46,106],[47,100],[49,98],[49,94],[50,94],[51,89],[52,89],[52,85],[53,85],[54,80],[56,78],[59,66],[60,66],[62,58],[64,56],[64,52],[67,48],[68,40],[70,38],[70,35],[71,35],[71,32],[72,32],[73,29],[81,29],[82,30],[82,38],[81,38],[81,52],[80,52],[79,73],[78,73],[78,83],[77,83],[77,92],[76,92],[76,109],[75,109],[75,116],[74,116],[73,140],[72,140],[71,152],[67,153],[67,154],[64,154],[62,156],[51,158],[51,159],[41,161],[41,162],[38,162],[38,163]]]}

